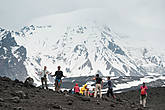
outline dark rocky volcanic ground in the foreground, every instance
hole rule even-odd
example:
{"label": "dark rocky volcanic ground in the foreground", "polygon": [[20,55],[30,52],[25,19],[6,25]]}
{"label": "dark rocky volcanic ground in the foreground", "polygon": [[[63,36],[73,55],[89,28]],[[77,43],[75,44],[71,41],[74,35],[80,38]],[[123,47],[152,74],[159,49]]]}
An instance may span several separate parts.
{"label": "dark rocky volcanic ground in the foreground", "polygon": [[138,90],[116,96],[98,99],[57,93],[0,77],[0,110],[165,110],[165,88],[149,89],[145,109],[139,105]]}

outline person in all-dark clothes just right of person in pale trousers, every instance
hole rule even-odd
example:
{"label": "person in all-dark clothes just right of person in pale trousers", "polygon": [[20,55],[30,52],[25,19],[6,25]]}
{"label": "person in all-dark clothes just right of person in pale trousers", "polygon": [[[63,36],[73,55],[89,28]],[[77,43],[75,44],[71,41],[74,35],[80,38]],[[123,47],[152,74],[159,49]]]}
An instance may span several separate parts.
{"label": "person in all-dark clothes just right of person in pale trousers", "polygon": [[111,96],[113,98],[116,98],[113,93],[113,83],[112,83],[110,77],[107,77],[107,80],[108,80],[108,82],[104,85],[104,86],[108,85],[107,97],[109,97],[109,94],[111,94]]}

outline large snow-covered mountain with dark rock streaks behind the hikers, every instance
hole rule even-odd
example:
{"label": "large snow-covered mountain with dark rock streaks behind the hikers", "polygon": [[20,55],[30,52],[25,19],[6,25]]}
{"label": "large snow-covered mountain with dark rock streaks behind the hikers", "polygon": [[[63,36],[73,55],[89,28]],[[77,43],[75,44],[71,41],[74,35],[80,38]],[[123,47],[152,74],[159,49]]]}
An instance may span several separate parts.
{"label": "large snow-covered mountain with dark rock streaks behind the hikers", "polygon": [[68,77],[165,73],[163,55],[127,45],[110,26],[100,24],[102,17],[92,13],[85,10],[43,17],[20,32],[0,28],[0,74],[39,81],[35,72],[45,65],[53,73],[60,65]]}

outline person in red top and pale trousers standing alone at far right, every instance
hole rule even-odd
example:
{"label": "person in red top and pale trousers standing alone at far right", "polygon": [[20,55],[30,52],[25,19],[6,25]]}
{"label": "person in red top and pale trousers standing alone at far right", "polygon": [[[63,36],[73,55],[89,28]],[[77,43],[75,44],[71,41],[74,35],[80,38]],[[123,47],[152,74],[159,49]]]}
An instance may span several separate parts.
{"label": "person in red top and pale trousers standing alone at far right", "polygon": [[140,87],[140,104],[143,105],[143,107],[146,107],[147,89],[147,86],[143,82],[143,86]]}

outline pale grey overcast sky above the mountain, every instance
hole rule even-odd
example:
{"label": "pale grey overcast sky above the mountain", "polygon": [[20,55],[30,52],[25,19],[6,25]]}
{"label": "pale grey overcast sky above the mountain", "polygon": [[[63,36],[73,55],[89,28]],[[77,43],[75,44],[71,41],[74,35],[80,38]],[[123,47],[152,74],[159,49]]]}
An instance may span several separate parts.
{"label": "pale grey overcast sky above the mountain", "polygon": [[120,22],[114,26],[118,33],[165,42],[165,0],[0,0],[0,27],[19,30],[38,17],[86,8],[123,16],[113,21]]}

